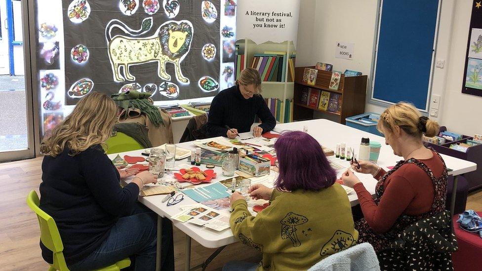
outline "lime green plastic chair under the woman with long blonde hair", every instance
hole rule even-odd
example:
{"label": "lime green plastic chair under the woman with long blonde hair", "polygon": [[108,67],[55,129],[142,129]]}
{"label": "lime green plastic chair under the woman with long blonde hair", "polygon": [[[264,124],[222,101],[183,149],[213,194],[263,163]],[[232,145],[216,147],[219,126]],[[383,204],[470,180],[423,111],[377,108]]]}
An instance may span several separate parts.
{"label": "lime green plastic chair under the woman with long blonde hair", "polygon": [[[39,219],[40,225],[40,240],[43,245],[45,245],[49,250],[53,252],[53,265],[50,265],[48,271],[69,271],[67,264],[65,263],[64,245],[62,244],[62,239],[60,238],[59,230],[57,229],[57,224],[51,216],[42,211],[39,208],[40,199],[39,195],[35,190],[32,190],[27,197],[27,204],[30,209],[32,209]],[[123,259],[111,266],[96,269],[96,271],[119,271],[122,268],[130,266],[129,258]]]}

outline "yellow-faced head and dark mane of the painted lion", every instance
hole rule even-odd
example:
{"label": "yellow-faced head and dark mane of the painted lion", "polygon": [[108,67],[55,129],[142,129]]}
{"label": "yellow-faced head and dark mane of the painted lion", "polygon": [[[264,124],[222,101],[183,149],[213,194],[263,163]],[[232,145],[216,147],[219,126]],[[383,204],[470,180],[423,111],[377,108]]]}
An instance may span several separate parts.
{"label": "yellow-faced head and dark mane of the painted lion", "polygon": [[163,24],[159,31],[162,53],[171,59],[177,59],[187,54],[193,40],[193,32],[193,25],[186,20]]}

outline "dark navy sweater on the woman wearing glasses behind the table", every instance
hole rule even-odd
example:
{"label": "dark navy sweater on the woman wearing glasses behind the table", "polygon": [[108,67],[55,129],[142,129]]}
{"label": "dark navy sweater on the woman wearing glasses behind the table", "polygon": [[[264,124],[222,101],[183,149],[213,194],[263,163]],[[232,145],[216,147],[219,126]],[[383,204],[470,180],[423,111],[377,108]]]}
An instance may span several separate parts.
{"label": "dark navy sweater on the woman wearing glasses behind the table", "polygon": [[211,102],[206,124],[207,136],[225,137],[228,132],[225,125],[238,129],[239,133],[249,132],[255,116],[262,122],[259,126],[263,128],[263,133],[275,128],[276,119],[261,95],[245,99],[238,85],[225,89]]}

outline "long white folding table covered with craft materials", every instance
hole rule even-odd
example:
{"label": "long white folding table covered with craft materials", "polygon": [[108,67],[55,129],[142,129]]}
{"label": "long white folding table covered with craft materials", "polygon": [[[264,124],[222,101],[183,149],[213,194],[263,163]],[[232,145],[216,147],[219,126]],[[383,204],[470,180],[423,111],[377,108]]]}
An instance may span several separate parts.
{"label": "long white folding table covered with craft materials", "polygon": [[[356,152],[358,151],[358,146],[360,144],[361,137],[367,136],[370,140],[379,141],[382,143],[382,148],[380,150],[380,157],[378,159],[379,165],[383,167],[394,166],[397,161],[401,160],[401,157],[396,156],[393,154],[392,148],[390,146],[384,145],[384,138],[370,134],[367,132],[363,132],[361,130],[351,128],[333,121],[329,121],[326,119],[315,119],[315,120],[308,120],[308,121],[300,121],[300,122],[290,122],[290,123],[283,123],[278,124],[275,128],[275,132],[283,132],[285,130],[303,130],[304,126],[308,127],[308,133],[312,135],[315,139],[317,139],[321,145],[326,146],[332,150],[335,149],[337,143],[346,143],[347,146],[353,147]],[[251,137],[252,133],[241,133],[241,138]],[[186,143],[179,143],[176,144],[177,146],[184,148],[184,149],[193,149],[196,146],[193,145],[193,142],[186,142]],[[121,157],[123,155],[130,155],[130,156],[141,156],[143,150],[131,151],[121,153]],[[113,159],[118,154],[109,155],[111,159]],[[448,168],[451,168],[452,171],[450,174],[456,176],[463,173],[467,173],[476,169],[477,165],[475,163],[461,160],[458,158],[442,155],[445,163],[447,164]],[[346,166],[349,166],[348,161],[343,161],[341,159],[335,159],[336,163]],[[179,164],[187,164],[187,159],[176,161],[176,165]],[[206,169],[205,165],[201,165],[201,169]],[[213,180],[213,182],[223,180],[221,174],[221,168],[215,167],[214,171],[217,173],[217,178]],[[366,174],[363,174],[366,175]],[[374,194],[376,180],[372,177],[361,178],[361,182],[365,186],[365,188],[370,192],[370,194]],[[205,184],[209,185],[209,184]],[[454,187],[456,187],[457,182],[456,178],[454,179]],[[454,194],[452,195],[452,211],[454,206],[454,199],[455,199],[455,191],[453,190]],[[182,205],[189,205],[196,203],[193,199],[189,198],[188,196],[184,196],[184,200],[181,201],[179,204],[173,206],[166,206],[166,203],[162,203],[161,200],[164,198],[165,195],[152,195],[146,197],[139,197],[139,201],[146,205],[148,208],[156,212],[160,218],[158,219],[158,259],[160,258],[160,248],[161,248],[161,227],[162,227],[162,220],[161,217],[167,217],[172,221],[174,227],[178,228],[180,231],[186,234],[186,253],[185,253],[185,270],[191,270],[191,238],[195,239],[198,243],[202,246],[207,248],[218,248],[218,250],[211,255],[203,264],[200,266],[194,267],[193,269],[197,268],[205,268],[207,264],[226,246],[232,243],[237,242],[237,239],[234,237],[233,233],[230,230],[224,230],[222,232],[216,232],[214,230],[210,230],[201,226],[197,226],[191,223],[181,223],[177,220],[172,220],[171,217],[180,212],[179,206]],[[349,194],[348,198],[352,206],[358,204],[358,197],[355,193]],[[224,211],[226,215],[229,215],[227,210]],[[157,270],[159,270],[159,265]]]}

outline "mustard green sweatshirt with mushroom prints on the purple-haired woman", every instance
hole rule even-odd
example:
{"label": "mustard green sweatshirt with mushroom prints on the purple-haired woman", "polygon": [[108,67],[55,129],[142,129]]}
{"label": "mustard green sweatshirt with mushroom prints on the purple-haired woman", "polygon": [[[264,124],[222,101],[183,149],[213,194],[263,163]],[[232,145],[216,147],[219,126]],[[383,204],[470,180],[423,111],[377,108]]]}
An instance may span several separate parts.
{"label": "mustard green sweatshirt with mushroom prints on the purple-haired woman", "polygon": [[256,217],[237,200],[230,224],[243,244],[263,253],[258,271],[307,270],[358,240],[348,195],[337,183],[320,191],[275,189]]}

